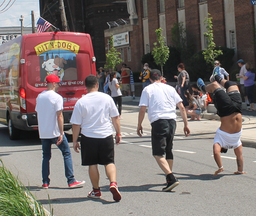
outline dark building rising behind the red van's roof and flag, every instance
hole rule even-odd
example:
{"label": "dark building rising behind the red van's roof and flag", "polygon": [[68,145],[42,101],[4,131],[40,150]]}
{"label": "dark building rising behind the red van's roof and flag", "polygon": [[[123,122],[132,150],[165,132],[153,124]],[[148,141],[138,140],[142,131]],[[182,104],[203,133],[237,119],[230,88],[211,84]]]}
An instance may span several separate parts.
{"label": "dark building rising behind the red van's roof and flag", "polygon": [[[69,31],[89,33],[92,37],[96,67],[104,66],[104,29],[109,28],[107,23],[110,21],[129,18],[126,0],[77,0],[72,2],[64,0],[63,2]],[[40,16],[62,30],[59,2],[39,0],[39,6]]]}

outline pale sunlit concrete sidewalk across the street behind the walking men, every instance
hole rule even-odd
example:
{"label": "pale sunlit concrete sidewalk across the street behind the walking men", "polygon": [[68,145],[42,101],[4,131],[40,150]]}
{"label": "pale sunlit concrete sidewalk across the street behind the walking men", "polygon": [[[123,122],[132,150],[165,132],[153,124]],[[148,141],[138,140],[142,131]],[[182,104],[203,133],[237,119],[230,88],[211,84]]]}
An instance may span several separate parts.
{"label": "pale sunlit concrete sidewalk across the street behind the walking men", "polygon": [[[122,117],[124,118],[121,122],[125,122],[131,126],[137,127],[138,124],[138,112],[139,112],[139,100],[140,97],[136,97],[135,100],[129,97],[123,97],[122,110],[134,111],[134,112],[123,112]],[[180,116],[180,111],[177,110],[177,115]],[[127,116],[127,118],[126,118]],[[256,138],[254,133],[256,132],[256,112],[250,112],[243,110],[243,133],[241,136],[241,141],[243,146],[256,147]],[[136,119],[136,121],[134,121]],[[146,120],[146,121],[145,121]],[[180,128],[178,125],[181,122],[177,121],[177,133],[183,133],[182,125]],[[189,128],[191,130],[190,136],[200,136],[201,138],[214,138],[217,128],[220,126],[220,117],[214,113],[204,113],[201,114],[200,121],[189,121]],[[143,128],[149,130],[151,129],[150,122],[145,116],[143,121]],[[179,128],[179,129],[178,129]]]}

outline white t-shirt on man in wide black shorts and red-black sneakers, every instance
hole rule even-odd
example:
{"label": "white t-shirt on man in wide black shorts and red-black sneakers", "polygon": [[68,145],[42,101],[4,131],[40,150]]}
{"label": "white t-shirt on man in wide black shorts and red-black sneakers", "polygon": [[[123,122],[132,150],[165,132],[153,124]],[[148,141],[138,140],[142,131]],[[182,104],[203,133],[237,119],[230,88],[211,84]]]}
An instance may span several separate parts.
{"label": "white t-shirt on man in wide black shorts and red-black sneakers", "polygon": [[106,138],[113,134],[110,117],[119,116],[112,97],[92,92],[80,98],[70,122],[81,125],[81,134],[91,138]]}

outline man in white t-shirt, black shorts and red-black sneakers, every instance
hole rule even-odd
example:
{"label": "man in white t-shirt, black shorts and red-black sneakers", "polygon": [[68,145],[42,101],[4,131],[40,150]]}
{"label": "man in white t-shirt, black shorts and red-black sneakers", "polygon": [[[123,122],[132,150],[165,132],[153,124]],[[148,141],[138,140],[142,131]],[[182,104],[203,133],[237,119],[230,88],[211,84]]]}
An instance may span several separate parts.
{"label": "man in white t-shirt, black shorts and red-black sneakers", "polygon": [[[98,92],[98,79],[89,75],[86,80],[88,94],[80,98],[74,107],[70,122],[73,123],[73,148],[81,149],[82,166],[89,166],[89,176],[93,190],[90,198],[101,198],[98,164],[105,166],[106,176],[110,180],[110,191],[115,201],[121,200],[116,183],[114,164],[114,140],[110,117],[116,130],[116,144],[121,142],[119,113],[114,100],[109,95]],[[81,147],[77,142],[81,128]],[[78,149],[77,149],[78,148]]]}

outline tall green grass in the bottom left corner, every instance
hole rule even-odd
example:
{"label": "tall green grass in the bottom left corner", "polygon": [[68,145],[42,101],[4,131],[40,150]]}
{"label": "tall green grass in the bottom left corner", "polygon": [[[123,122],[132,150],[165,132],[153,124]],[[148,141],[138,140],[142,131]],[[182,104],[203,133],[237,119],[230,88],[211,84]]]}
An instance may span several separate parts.
{"label": "tall green grass in the bottom left corner", "polygon": [[0,159],[0,215],[49,216],[42,204],[24,184],[10,172]]}

